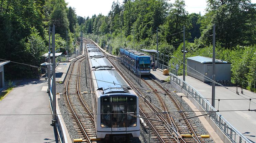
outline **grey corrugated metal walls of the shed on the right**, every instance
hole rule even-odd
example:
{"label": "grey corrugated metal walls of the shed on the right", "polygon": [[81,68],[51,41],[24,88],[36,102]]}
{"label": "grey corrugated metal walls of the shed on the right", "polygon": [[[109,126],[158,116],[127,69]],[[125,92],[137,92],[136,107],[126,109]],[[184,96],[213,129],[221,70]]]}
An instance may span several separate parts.
{"label": "grey corrugated metal walls of the shed on the right", "polygon": [[[231,63],[216,63],[215,81],[231,81]],[[191,69],[191,68],[195,70]],[[203,75],[212,79],[212,63],[200,63],[190,59],[187,59],[187,75],[194,77],[202,82],[210,82]]]}

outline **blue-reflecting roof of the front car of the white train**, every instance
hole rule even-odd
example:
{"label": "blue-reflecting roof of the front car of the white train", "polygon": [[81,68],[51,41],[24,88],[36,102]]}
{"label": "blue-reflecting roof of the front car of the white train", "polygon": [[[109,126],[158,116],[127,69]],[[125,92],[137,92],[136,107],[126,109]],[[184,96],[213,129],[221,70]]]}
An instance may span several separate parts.
{"label": "blue-reflecting roof of the front car of the white train", "polygon": [[[130,93],[131,89],[117,71],[101,70],[93,71],[97,82],[97,90],[101,90],[102,96],[109,93]],[[108,76],[106,76],[108,75]]]}

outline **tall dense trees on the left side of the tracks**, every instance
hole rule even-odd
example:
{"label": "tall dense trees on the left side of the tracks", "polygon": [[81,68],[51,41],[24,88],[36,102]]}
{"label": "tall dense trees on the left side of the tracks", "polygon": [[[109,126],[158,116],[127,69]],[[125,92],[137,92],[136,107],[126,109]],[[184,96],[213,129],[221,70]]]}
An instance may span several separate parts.
{"label": "tall dense trees on the left side of the tracks", "polygon": [[[49,26],[56,26],[56,52],[74,48],[77,15],[65,0],[1,0],[0,58],[39,66],[48,52]],[[77,37],[79,30],[77,30]],[[39,69],[13,62],[4,66],[5,80],[33,78]]]}

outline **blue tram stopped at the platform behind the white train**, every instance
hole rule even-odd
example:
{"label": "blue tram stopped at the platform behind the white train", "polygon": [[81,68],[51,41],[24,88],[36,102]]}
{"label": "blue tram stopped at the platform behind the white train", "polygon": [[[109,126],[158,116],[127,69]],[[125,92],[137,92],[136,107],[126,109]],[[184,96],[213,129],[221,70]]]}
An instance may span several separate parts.
{"label": "blue tram stopped at the platform behind the white train", "polygon": [[[135,67],[140,71],[141,75],[150,75],[150,56],[135,49],[120,48],[120,56],[124,60],[124,64]],[[129,67],[130,68],[130,67]]]}

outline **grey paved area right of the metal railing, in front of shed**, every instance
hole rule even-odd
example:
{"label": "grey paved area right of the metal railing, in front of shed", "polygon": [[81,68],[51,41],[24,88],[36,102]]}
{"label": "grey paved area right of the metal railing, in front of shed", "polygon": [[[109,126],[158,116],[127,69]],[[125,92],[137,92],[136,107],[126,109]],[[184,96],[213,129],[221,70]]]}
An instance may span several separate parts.
{"label": "grey paved area right of the metal railing, in front of shed", "polygon": [[[183,76],[178,77],[183,78]],[[194,87],[204,98],[209,98],[207,100],[211,103],[212,86],[190,76],[185,76],[185,81]],[[255,111],[248,111],[248,109],[256,109],[256,99],[254,99],[256,98],[256,93],[243,89],[243,94],[241,94],[241,88],[238,88],[239,95],[237,95],[236,87],[227,88],[228,89],[222,86],[215,86],[215,99],[220,99],[219,102],[215,100],[215,109],[219,110],[219,114],[236,128],[236,130],[255,143],[256,113]],[[251,103],[249,101],[250,98],[252,99]]]}

